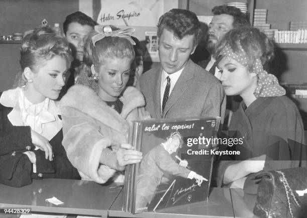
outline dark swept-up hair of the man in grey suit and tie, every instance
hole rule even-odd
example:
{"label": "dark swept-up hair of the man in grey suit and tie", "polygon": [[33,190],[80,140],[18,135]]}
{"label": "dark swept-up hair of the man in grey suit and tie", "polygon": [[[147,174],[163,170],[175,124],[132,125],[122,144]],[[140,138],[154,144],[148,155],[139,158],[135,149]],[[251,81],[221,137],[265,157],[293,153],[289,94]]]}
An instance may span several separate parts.
{"label": "dark swept-up hair of the man in grey suit and tie", "polygon": [[174,33],[175,37],[182,39],[186,35],[194,35],[194,46],[200,41],[202,30],[196,14],[190,10],[173,8],[159,18],[158,37],[164,29]]}

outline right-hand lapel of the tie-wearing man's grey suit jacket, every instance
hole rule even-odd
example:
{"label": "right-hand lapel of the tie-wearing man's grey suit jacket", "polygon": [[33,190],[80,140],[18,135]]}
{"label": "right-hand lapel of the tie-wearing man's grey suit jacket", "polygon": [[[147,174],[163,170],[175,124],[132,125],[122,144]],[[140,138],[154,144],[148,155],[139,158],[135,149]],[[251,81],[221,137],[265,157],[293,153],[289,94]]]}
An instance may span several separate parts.
{"label": "right-hand lapel of the tie-wearing man's grey suit jacket", "polygon": [[176,101],[180,98],[180,96],[186,91],[186,89],[188,88],[187,81],[193,77],[194,77],[194,66],[192,64],[192,60],[189,60],[169,96],[169,99],[164,108],[163,117],[165,117],[166,113],[176,103]]}

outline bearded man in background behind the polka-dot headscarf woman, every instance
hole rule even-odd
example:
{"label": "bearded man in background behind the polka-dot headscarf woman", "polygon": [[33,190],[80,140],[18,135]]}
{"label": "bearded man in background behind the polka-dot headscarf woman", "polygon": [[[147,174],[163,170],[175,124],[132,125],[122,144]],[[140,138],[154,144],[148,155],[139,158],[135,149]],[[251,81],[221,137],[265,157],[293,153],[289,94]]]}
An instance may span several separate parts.
{"label": "bearded man in background behind the polka-dot headscarf woman", "polygon": [[198,64],[219,78],[220,72],[217,67],[215,67],[215,48],[217,44],[230,29],[250,26],[250,23],[246,15],[237,7],[225,4],[219,5],[213,7],[212,13],[214,16],[209,24],[206,45],[210,57],[200,61]]}

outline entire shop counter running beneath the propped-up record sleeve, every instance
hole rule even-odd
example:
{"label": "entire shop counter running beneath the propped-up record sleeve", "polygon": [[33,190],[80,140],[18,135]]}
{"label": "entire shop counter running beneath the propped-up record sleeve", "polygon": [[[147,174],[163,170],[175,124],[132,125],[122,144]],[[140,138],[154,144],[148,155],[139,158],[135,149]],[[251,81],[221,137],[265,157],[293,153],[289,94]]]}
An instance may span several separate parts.
{"label": "entire shop counter running beneath the propped-up record sleeve", "polygon": [[[64,202],[55,205],[47,198]],[[211,188],[209,199],[156,211],[131,214],[123,211],[123,189],[117,183],[98,184],[94,181],[71,179],[33,180],[24,187],[0,184],[0,208],[31,208],[33,212],[95,215],[101,217],[244,217],[254,218],[256,195],[244,194],[239,188]],[[0,217],[8,217],[0,213]],[[12,214],[10,215],[12,216]],[[17,217],[17,216],[16,216]]]}

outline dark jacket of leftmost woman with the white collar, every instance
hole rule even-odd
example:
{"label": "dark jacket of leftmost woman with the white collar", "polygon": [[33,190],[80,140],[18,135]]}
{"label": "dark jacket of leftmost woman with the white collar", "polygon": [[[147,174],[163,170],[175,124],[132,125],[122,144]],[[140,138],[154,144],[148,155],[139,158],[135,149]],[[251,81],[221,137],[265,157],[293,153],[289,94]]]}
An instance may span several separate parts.
{"label": "dark jacket of leftmost woman with the white collar", "polygon": [[[30,126],[12,125],[8,118],[12,109],[0,104],[0,183],[20,187],[31,184],[33,178],[80,179],[62,146],[62,129],[49,141],[54,153],[53,161],[49,161],[44,151],[34,150]],[[23,153],[28,150],[36,155],[36,173],[33,173],[29,157]]]}

